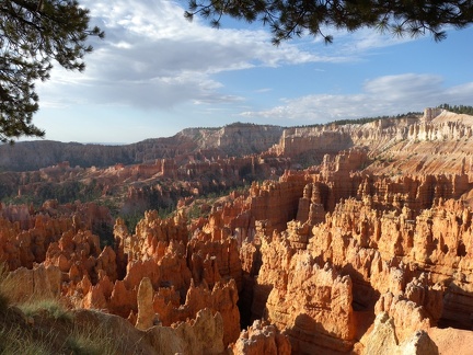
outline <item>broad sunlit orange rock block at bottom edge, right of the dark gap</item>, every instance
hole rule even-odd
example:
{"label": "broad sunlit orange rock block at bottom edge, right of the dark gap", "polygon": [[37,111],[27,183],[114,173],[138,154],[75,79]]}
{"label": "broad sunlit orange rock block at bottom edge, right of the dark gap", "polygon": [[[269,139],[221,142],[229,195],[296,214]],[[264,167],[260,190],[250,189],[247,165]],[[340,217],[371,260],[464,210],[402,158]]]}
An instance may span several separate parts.
{"label": "broad sunlit orange rock block at bottom edge, right of the dark gap", "polygon": [[[261,248],[254,302],[289,336],[295,353],[348,352],[355,342],[351,279],[275,237]],[[270,289],[267,295],[264,290]],[[258,298],[266,298],[262,300]]]}

